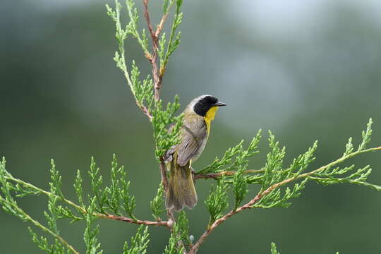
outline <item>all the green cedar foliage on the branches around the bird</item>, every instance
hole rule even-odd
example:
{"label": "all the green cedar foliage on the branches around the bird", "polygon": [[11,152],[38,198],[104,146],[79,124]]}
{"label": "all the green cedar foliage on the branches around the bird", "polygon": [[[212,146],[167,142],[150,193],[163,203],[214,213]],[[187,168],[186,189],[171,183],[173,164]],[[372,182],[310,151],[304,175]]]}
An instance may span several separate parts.
{"label": "all the green cedar foliage on the branches around the bird", "polygon": [[[178,114],[179,97],[176,96],[174,102],[168,103],[166,106],[162,100],[155,99],[154,90],[157,87],[155,87],[150,75],[141,80],[140,71],[135,61],[126,63],[124,40],[128,37],[135,38],[149,60],[152,60],[152,54],[157,54],[159,73],[162,78],[169,56],[179,47],[181,33],[178,28],[183,19],[182,3],[182,0],[163,0],[163,16],[169,16],[171,10],[174,10],[174,14],[169,37],[166,37],[164,33],[157,37],[157,52],[150,52],[148,49],[147,35],[144,29],[139,30],[138,28],[138,9],[132,0],[126,1],[126,16],[129,18],[126,25],[121,24],[123,6],[117,0],[114,8],[107,5],[107,13],[114,20],[115,37],[119,44],[119,50],[114,55],[114,61],[125,75],[138,108],[147,115],[152,123],[155,157],[161,165],[164,164],[165,152],[179,143],[179,133],[183,120],[183,116]],[[131,68],[127,66],[131,66]],[[262,169],[253,170],[248,169],[248,159],[259,152],[258,144],[261,139],[261,131],[258,131],[247,146],[243,145],[244,141],[241,140],[238,145],[227,149],[221,158],[216,157],[207,167],[195,172],[195,179],[206,178],[217,181],[215,186],[212,185],[210,195],[205,200],[207,211],[210,213],[210,220],[203,235],[206,237],[215,226],[244,209],[289,207],[291,198],[301,195],[301,191],[308,181],[316,181],[322,185],[353,183],[381,191],[380,186],[367,181],[371,173],[370,166],[357,168],[355,165],[343,165],[343,162],[356,155],[381,150],[381,147],[367,148],[371,135],[372,119],[368,122],[366,130],[363,131],[357,149],[353,145],[352,138],[349,138],[345,151],[339,159],[312,171],[310,171],[310,164],[315,160],[314,153],[317,150],[317,142],[313,143],[306,152],[296,157],[287,166],[283,162],[286,156],[286,148],[281,147],[275,136],[269,131],[270,152],[267,154]],[[126,170],[118,164],[115,155],[111,160],[111,180],[109,183],[105,183],[104,178],[99,174],[99,168],[94,158],[91,159],[90,169],[87,173],[91,183],[91,193],[87,196],[83,195],[83,176],[78,171],[73,183],[78,200],[73,202],[63,194],[62,178],[53,160],[50,169],[49,191],[46,191],[12,176],[6,169],[6,160],[3,158],[0,162],[1,208],[8,214],[40,228],[44,234],[42,236],[32,231],[31,228],[29,229],[32,241],[45,253],[51,254],[78,253],[61,237],[57,222],[63,219],[69,222],[85,222],[83,240],[88,254],[103,253],[97,239],[99,233],[97,221],[99,219],[167,226],[171,229],[171,236],[167,246],[163,249],[166,254],[182,254],[188,253],[188,251],[195,253],[198,250],[195,249],[195,246],[199,247],[205,240],[205,238],[200,238],[200,242],[193,244],[194,237],[189,234],[190,222],[185,211],[182,211],[177,218],[170,217],[168,222],[163,221],[162,217],[166,212],[163,182],[159,185],[157,195],[150,202],[152,216],[155,219],[154,222],[150,222],[139,220],[137,215],[135,216],[135,198],[130,193],[130,182],[127,181]],[[249,193],[250,184],[260,186],[259,193],[255,195]],[[47,197],[47,211],[44,212],[46,222],[44,223],[30,217],[16,201],[16,198],[35,195]],[[234,195],[234,204],[230,207],[228,204],[229,195]],[[226,213],[228,208],[230,212]],[[171,215],[170,211],[167,213]],[[51,237],[47,238],[45,234]],[[148,227],[141,225],[136,235],[131,238],[130,243],[126,241],[124,244],[123,254],[147,253],[149,242]],[[271,253],[279,254],[274,243],[272,243]]]}

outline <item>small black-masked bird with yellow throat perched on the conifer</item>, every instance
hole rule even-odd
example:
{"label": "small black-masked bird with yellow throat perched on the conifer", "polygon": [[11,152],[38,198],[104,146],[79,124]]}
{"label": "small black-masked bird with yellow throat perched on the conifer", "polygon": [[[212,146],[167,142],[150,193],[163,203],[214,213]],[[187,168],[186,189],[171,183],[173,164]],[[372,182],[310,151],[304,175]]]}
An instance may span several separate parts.
{"label": "small black-masked bird with yellow throat perched on the conifer", "polygon": [[193,209],[197,204],[197,193],[193,182],[191,164],[203,152],[210,133],[210,125],[219,107],[225,103],[212,95],[201,95],[193,99],[183,111],[180,143],[172,146],[164,156],[169,184],[166,207],[179,212],[186,206]]}

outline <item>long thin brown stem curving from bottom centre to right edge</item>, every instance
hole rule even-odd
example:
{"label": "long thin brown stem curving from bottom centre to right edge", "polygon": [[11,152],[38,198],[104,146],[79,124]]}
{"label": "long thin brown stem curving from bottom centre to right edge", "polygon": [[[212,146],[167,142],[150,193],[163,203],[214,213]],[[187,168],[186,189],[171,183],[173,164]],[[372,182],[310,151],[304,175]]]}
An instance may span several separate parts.
{"label": "long thin brown stem curving from bottom centre to right edge", "polygon": [[329,164],[327,164],[325,166],[322,166],[322,167],[320,167],[318,169],[315,169],[315,170],[310,171],[308,173],[301,174],[301,175],[298,175],[296,177],[293,177],[293,178],[290,178],[290,179],[286,179],[286,180],[281,181],[279,183],[273,184],[272,186],[267,188],[265,191],[260,192],[257,195],[255,195],[255,198],[250,200],[245,205],[242,205],[241,207],[238,207],[236,210],[231,210],[229,213],[225,214],[223,217],[221,217],[221,218],[217,219],[215,222],[213,222],[213,224],[200,236],[200,238],[198,239],[197,243],[195,243],[195,245],[193,245],[193,247],[189,250],[188,254],[195,254],[195,253],[197,253],[198,248],[200,248],[201,244],[206,240],[207,236],[209,236],[212,233],[212,231],[214,229],[216,229],[217,226],[219,226],[219,224],[222,224],[222,222],[226,221],[226,219],[229,219],[229,217],[233,216],[234,214],[237,214],[238,212],[242,212],[243,210],[246,210],[248,208],[253,208],[253,205],[255,204],[255,202],[258,202],[258,200],[260,200],[261,198],[265,197],[265,195],[268,195],[269,193],[274,191],[274,189],[279,188],[280,186],[284,186],[285,184],[290,183],[291,181],[296,181],[298,179],[306,178],[306,177],[308,177],[310,175],[316,174],[317,172],[323,171],[323,170],[325,170],[325,169],[327,169],[329,167],[334,166],[335,164],[339,164],[341,162],[344,162],[344,160],[349,159],[349,158],[351,158],[351,157],[353,157],[355,155],[359,155],[359,154],[361,154],[363,152],[373,152],[373,151],[376,151],[376,150],[381,150],[381,146],[380,147],[369,148],[367,150],[352,152],[351,154],[346,155],[344,157],[341,157],[341,158],[335,160],[334,162],[331,162],[331,163],[329,163]]}

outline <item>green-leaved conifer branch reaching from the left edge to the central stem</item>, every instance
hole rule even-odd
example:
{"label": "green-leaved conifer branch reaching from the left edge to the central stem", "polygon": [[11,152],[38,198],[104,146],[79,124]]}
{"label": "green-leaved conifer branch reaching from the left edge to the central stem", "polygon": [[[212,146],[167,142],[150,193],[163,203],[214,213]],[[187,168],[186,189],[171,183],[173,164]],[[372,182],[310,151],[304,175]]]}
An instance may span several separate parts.
{"label": "green-leaved conifer branch reaching from the left edge to the central stem", "polygon": [[[50,191],[44,191],[30,183],[14,178],[8,171],[6,171],[5,158],[3,158],[0,162],[1,207],[9,214],[18,217],[25,222],[31,222],[35,226],[42,229],[42,231],[56,238],[56,240],[52,243],[49,243],[46,237],[38,236],[34,231],[32,231],[32,229],[30,229],[33,242],[36,243],[38,248],[44,250],[46,253],[78,254],[78,251],[60,236],[60,231],[57,224],[59,219],[71,219],[71,221],[85,220],[86,227],[83,238],[85,241],[87,254],[103,253],[103,250],[100,248],[100,243],[97,240],[99,226],[94,226],[97,219],[108,218],[137,224],[166,225],[166,223],[160,224],[159,222],[139,221],[133,217],[132,210],[135,207],[135,201],[128,193],[129,182],[125,179],[126,172],[124,171],[124,167],[119,167],[115,155],[113,156],[111,162],[111,183],[109,186],[104,188],[102,188],[103,180],[102,176],[99,175],[99,168],[97,168],[95,164],[95,159],[92,158],[89,176],[93,195],[88,196],[89,205],[87,206],[85,205],[82,197],[83,180],[80,176],[80,171],[77,172],[75,183],[73,185],[75,192],[78,195],[80,205],[76,205],[74,202],[67,200],[64,197],[61,190],[62,178],[59,171],[56,170],[56,165],[53,160],[50,175],[52,179],[49,183]],[[16,200],[13,198],[13,195],[16,197],[25,197],[26,195],[39,194],[47,195],[48,198],[48,210],[44,212],[45,219],[47,220],[47,226],[44,226],[41,222],[32,219],[28,213],[20,208]],[[61,205],[59,204],[60,202]],[[127,213],[130,213],[132,219],[118,216],[121,214],[121,209],[127,210]],[[109,212],[114,212],[114,214],[109,214]],[[147,244],[145,243],[149,241],[147,230],[144,231],[143,236],[140,236],[140,233],[141,230],[139,229],[135,240],[131,243],[131,248],[126,248],[125,246],[124,251],[129,251],[126,253],[145,253],[145,249],[147,248]]]}

